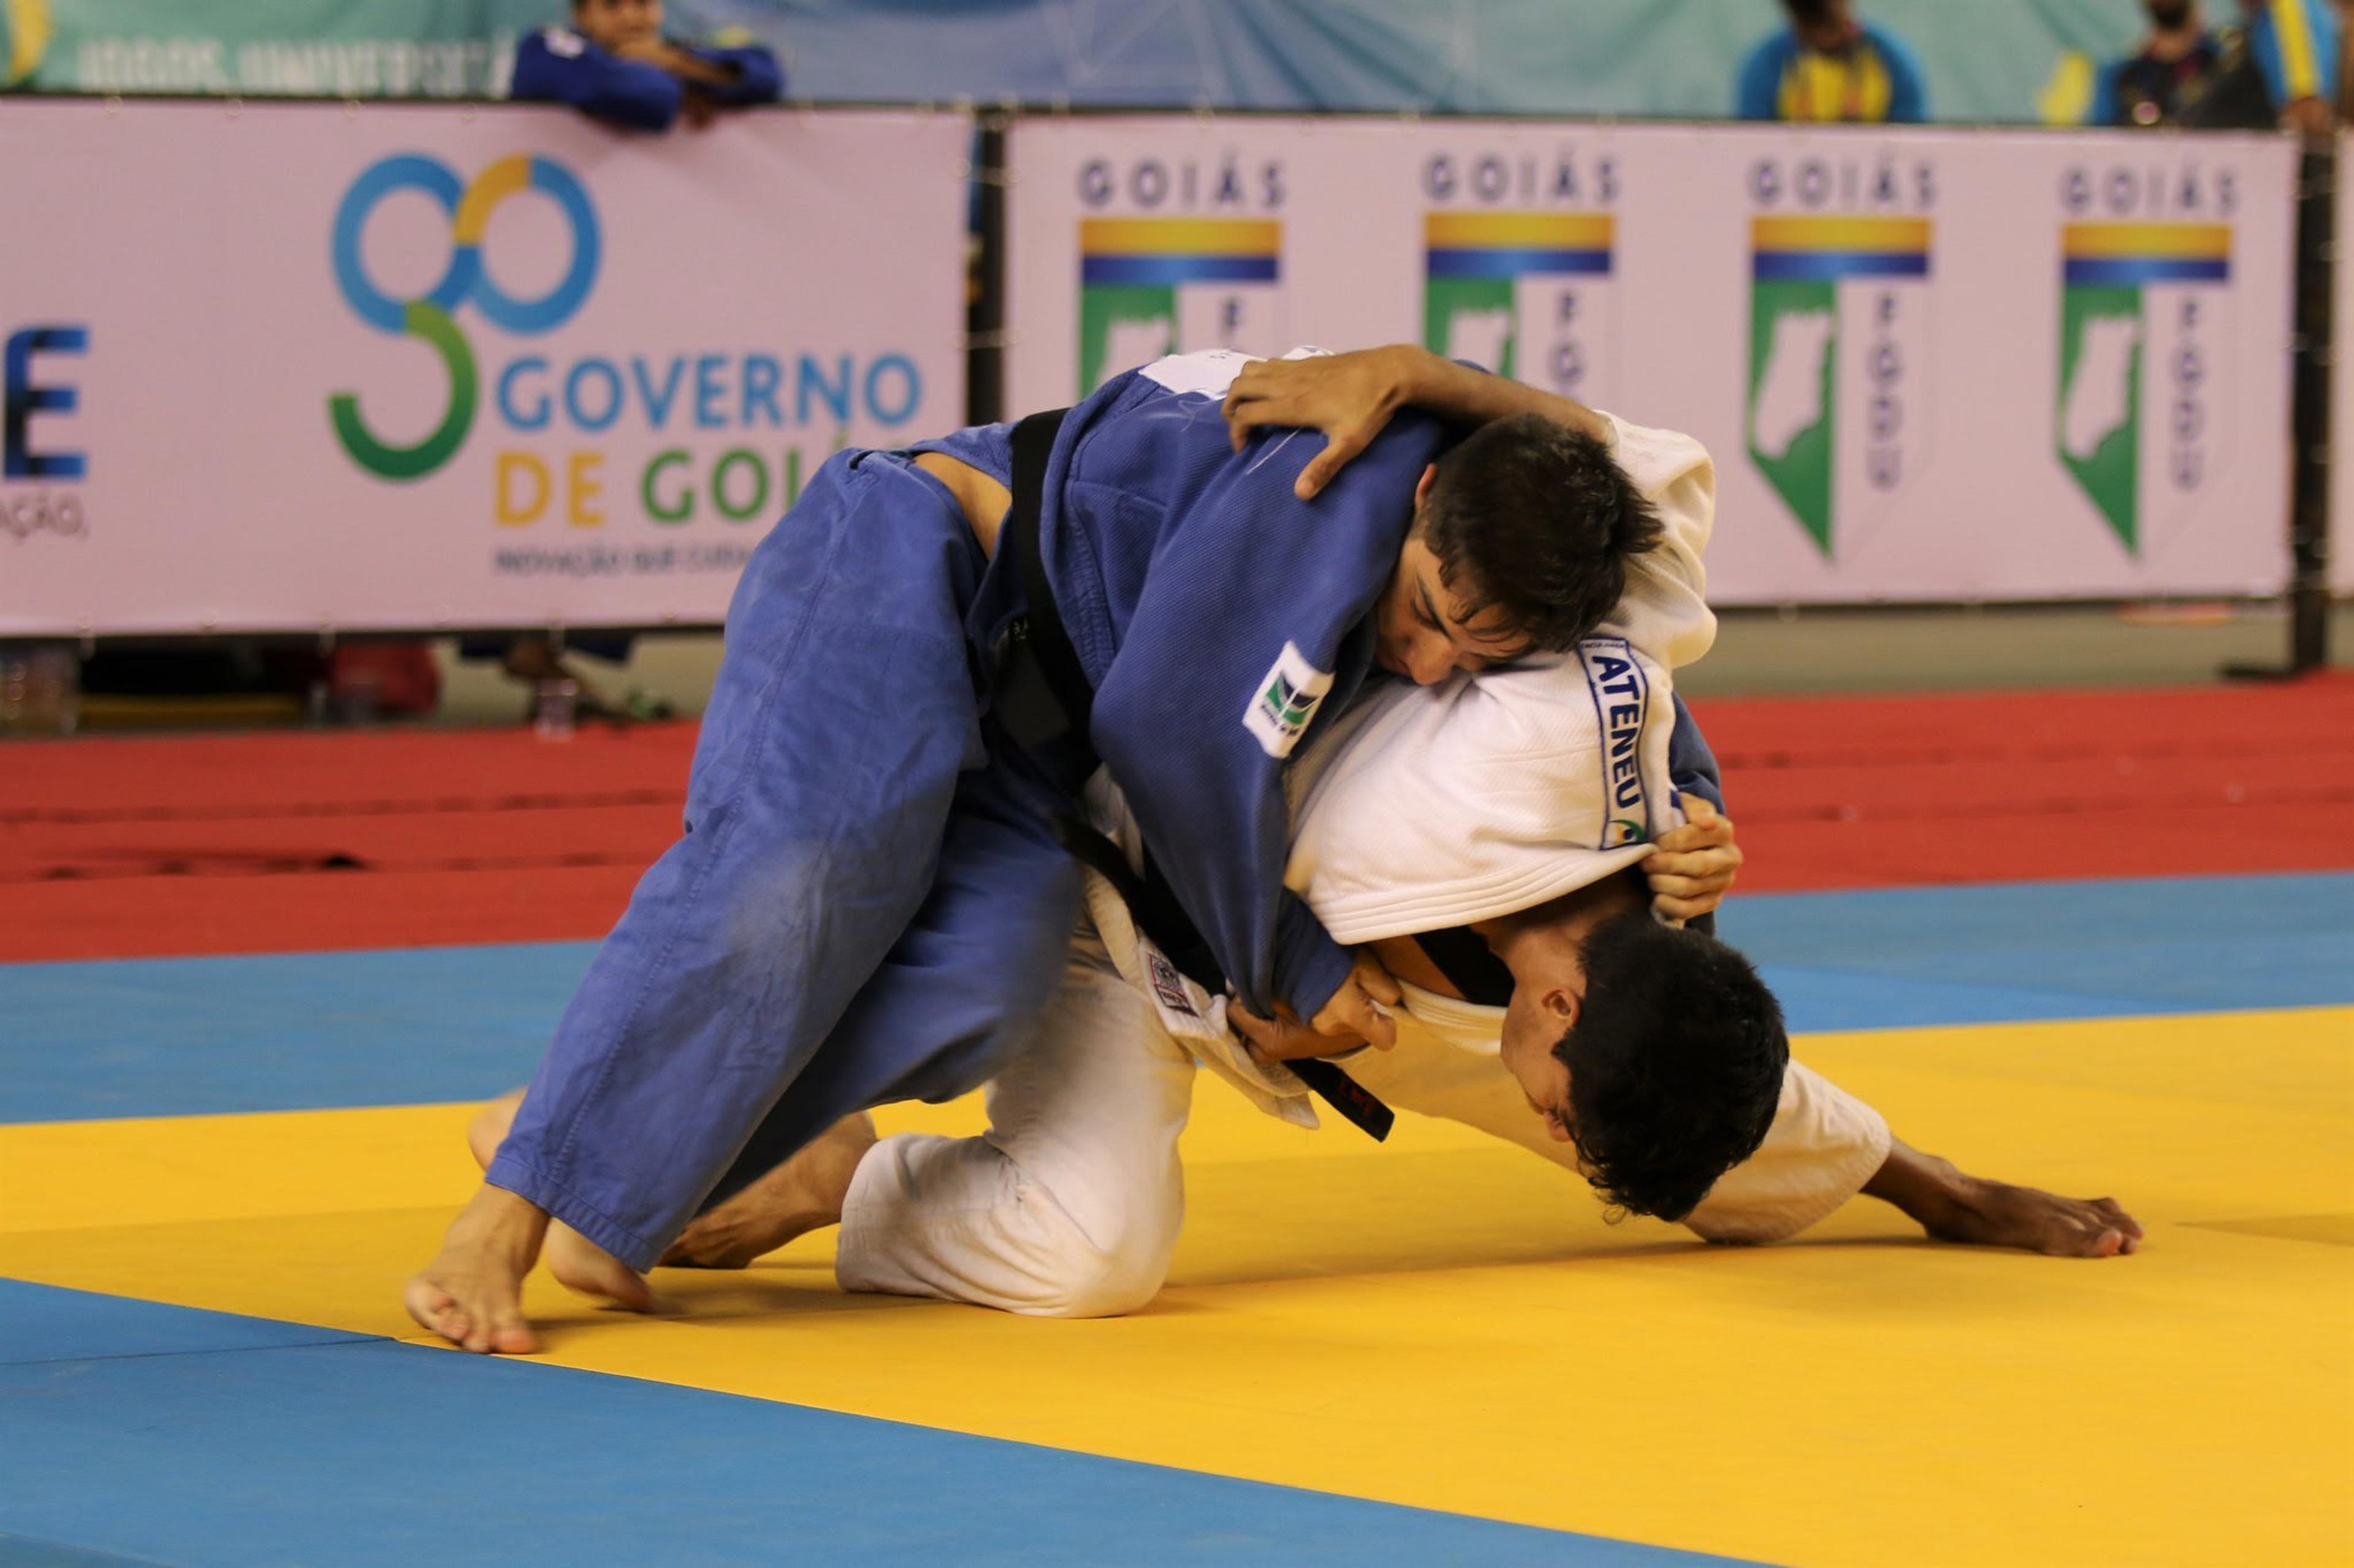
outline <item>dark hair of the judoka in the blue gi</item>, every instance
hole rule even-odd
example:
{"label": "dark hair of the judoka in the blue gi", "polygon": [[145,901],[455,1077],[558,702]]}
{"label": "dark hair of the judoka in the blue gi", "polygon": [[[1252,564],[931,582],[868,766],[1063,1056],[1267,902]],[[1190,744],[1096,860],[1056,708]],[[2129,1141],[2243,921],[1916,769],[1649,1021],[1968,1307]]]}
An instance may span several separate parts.
{"label": "dark hair of the judoka in the blue gi", "polygon": [[1601,440],[1514,414],[1438,459],[1415,530],[1467,622],[1495,612],[1532,650],[1563,652],[1617,605],[1660,513]]}

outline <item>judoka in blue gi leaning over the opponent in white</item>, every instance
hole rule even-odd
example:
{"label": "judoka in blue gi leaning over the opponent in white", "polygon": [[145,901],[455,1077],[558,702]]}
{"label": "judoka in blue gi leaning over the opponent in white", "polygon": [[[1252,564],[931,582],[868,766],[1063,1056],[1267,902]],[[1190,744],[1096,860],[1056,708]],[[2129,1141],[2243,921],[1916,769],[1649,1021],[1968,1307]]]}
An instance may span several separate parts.
{"label": "judoka in blue gi leaning over the opponent in white", "polygon": [[[1302,504],[1314,438],[1229,443],[1243,363],[1179,356],[1059,426],[826,461],[737,586],[685,833],[410,1281],[419,1323],[532,1349],[520,1281],[551,1217],[605,1260],[567,1283],[645,1304],[706,1201],[852,1111],[984,1083],[1062,975],[1080,878],[1057,819],[1097,758],[1245,1005],[1387,1034],[1379,965],[1283,890],[1285,758],[1375,664],[1434,683],[1572,645],[1657,520],[1603,443],[1535,414],[1459,443],[1401,417]],[[1012,497],[1033,523],[1008,525]],[[1092,718],[1017,739],[1057,629]]]}

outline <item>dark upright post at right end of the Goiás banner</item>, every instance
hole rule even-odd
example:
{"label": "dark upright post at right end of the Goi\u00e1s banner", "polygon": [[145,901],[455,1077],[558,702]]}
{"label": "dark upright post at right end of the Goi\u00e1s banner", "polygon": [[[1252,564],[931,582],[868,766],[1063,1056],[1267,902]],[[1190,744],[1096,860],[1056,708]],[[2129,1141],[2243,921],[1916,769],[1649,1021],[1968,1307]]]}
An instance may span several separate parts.
{"label": "dark upright post at right end of the Goi\u00e1s banner", "polygon": [[2338,304],[2338,141],[2298,158],[2295,348],[2290,358],[2288,662],[2227,664],[2227,680],[2293,680],[2330,662],[2330,379]]}

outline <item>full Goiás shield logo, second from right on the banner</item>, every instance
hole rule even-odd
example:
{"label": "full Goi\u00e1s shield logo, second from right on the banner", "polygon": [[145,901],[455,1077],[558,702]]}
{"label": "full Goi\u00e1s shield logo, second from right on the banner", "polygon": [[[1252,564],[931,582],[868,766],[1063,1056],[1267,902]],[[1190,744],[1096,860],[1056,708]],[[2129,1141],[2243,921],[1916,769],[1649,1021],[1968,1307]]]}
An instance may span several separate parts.
{"label": "full Goi\u00e1s shield logo, second from right on the banner", "polygon": [[1749,170],[1749,461],[1824,558],[1926,459],[1935,200],[1926,158]]}

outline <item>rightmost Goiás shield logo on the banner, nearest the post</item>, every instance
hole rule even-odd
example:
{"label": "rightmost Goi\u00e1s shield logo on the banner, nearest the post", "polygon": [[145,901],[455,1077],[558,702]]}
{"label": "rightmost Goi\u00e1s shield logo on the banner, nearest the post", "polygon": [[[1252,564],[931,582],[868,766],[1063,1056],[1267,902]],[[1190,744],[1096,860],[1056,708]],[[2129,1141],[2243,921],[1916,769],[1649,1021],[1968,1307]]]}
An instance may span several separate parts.
{"label": "rightmost Goi\u00e1s shield logo on the banner, nearest the post", "polygon": [[2229,450],[2236,210],[2234,172],[2189,160],[2060,179],[2053,450],[2128,556],[2187,516]]}

